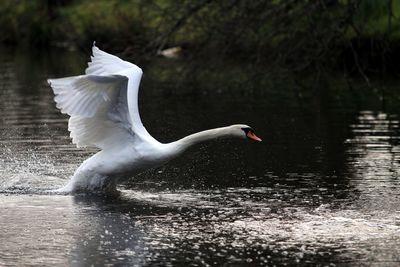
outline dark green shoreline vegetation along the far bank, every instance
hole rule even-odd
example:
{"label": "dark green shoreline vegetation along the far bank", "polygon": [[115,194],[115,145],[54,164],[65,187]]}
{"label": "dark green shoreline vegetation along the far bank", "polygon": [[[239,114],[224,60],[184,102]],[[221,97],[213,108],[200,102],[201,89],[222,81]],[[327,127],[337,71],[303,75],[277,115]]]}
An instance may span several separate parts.
{"label": "dark green shoreline vegetation along the far bank", "polygon": [[[290,75],[397,75],[393,0],[2,0],[0,43],[243,62]],[[256,75],[256,74],[255,74]]]}

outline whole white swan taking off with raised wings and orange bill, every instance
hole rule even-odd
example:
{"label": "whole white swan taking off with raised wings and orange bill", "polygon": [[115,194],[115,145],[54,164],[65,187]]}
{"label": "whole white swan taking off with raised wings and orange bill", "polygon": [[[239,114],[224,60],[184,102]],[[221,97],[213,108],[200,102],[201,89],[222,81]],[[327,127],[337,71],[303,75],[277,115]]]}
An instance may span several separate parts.
{"label": "whole white swan taking off with raised wings and orange bill", "polygon": [[85,75],[48,80],[57,108],[70,116],[72,142],[77,147],[101,149],[81,164],[59,192],[114,191],[123,179],[209,139],[236,136],[261,141],[249,126],[237,124],[160,143],[147,132],[139,116],[142,70],[95,45],[91,60]]}

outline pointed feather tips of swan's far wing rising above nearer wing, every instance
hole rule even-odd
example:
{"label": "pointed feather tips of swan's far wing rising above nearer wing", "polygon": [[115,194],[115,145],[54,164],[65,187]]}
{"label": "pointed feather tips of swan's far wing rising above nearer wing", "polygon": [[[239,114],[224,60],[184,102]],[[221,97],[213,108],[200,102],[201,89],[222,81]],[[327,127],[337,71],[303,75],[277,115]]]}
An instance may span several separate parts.
{"label": "pointed feather tips of swan's far wing rising above nearer wing", "polygon": [[91,62],[88,63],[88,67],[85,70],[86,74],[93,75],[108,75],[118,73],[124,69],[137,67],[136,65],[129,63],[100,50],[97,46],[93,45],[92,48],[93,56]]}

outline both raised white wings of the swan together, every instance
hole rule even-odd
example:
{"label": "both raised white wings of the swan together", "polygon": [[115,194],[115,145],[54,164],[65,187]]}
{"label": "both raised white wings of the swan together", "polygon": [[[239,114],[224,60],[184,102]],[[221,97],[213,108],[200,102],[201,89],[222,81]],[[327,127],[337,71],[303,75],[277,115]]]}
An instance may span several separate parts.
{"label": "both raised white wings of the swan together", "polygon": [[154,140],[143,127],[137,106],[140,68],[94,46],[86,73],[48,81],[57,107],[71,116],[68,129],[74,144],[107,149],[138,134]]}

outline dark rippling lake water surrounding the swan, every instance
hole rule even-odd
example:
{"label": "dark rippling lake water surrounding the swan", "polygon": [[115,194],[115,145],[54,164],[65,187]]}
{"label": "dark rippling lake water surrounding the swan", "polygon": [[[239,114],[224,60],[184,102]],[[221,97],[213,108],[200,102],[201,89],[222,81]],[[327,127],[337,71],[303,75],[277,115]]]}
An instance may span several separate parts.
{"label": "dark rippling lake water surrounding the swan", "polygon": [[86,60],[0,49],[0,266],[399,265],[394,90],[382,99],[321,85],[301,96],[223,74],[180,79],[190,66],[179,60],[143,62],[141,115],[157,139],[246,123],[263,142],[194,147],[120,197],[49,195],[95,150],[71,144],[45,80],[79,74]]}

